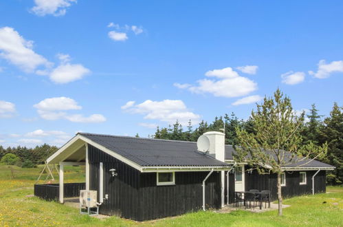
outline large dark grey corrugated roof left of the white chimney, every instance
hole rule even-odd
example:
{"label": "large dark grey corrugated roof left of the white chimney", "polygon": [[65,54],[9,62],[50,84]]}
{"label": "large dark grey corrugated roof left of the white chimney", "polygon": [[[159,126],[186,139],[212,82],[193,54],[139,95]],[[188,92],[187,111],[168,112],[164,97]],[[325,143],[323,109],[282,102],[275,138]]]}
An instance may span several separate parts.
{"label": "large dark grey corrugated roof left of the white chimney", "polygon": [[196,142],[78,133],[140,166],[230,166],[197,151]]}

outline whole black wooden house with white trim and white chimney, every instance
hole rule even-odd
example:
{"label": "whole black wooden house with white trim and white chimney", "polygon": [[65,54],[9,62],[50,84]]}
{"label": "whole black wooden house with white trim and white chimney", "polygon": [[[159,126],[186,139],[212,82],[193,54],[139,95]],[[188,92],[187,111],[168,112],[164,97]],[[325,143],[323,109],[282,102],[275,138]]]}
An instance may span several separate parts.
{"label": "whole black wooden house with white trim and white chimney", "polygon": [[[54,198],[63,203],[65,197],[63,166],[85,164],[85,188],[98,192],[104,215],[142,221],[221,208],[233,202],[234,191],[251,188],[270,190],[276,199],[275,175],[258,175],[235,164],[234,149],[224,145],[223,133],[204,135],[210,140],[208,153],[198,151],[196,142],[78,133],[47,159],[60,165]],[[283,195],[325,192],[325,171],[330,169],[318,161],[285,169]],[[35,186],[35,195],[46,199],[45,193]]]}

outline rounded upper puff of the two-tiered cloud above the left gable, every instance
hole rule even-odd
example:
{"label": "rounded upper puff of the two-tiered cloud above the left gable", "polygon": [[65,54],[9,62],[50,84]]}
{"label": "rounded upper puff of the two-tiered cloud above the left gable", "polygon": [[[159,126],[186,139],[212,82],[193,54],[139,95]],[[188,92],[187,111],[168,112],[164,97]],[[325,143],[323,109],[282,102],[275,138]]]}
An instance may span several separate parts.
{"label": "rounded upper puff of the two-tiered cloud above the left gable", "polygon": [[45,98],[34,107],[42,111],[82,109],[74,99],[67,97]]}

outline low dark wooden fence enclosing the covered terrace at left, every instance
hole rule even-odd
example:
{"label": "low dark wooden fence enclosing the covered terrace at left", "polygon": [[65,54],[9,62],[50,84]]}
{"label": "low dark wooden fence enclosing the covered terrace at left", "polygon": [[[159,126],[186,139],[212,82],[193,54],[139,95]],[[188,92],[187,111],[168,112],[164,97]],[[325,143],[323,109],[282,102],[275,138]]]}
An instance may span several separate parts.
{"label": "low dark wooden fence enclosing the covered terrace at left", "polygon": [[[85,189],[85,183],[65,183],[64,197],[78,197],[80,190]],[[59,184],[34,184],[34,195],[45,200],[58,200],[60,197]]]}

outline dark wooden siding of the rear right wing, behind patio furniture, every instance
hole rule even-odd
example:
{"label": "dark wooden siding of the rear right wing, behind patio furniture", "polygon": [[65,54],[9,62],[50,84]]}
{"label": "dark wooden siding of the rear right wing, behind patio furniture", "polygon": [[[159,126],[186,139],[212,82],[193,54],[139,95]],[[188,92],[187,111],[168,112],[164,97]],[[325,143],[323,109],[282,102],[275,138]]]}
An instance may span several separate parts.
{"label": "dark wooden siding of the rear right wing, behind patio furniture", "polygon": [[[300,171],[286,172],[286,186],[281,188],[283,197],[293,197],[297,195],[312,193],[312,176],[316,171],[301,171],[306,172],[307,184],[300,184]],[[315,193],[324,193],[326,191],[326,173],[320,171],[314,177]],[[277,175],[265,174],[259,175],[257,171],[252,173],[245,172],[245,191],[250,189],[269,190],[273,200],[277,199]]]}

